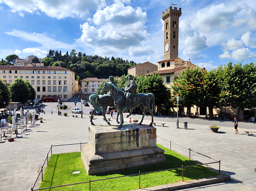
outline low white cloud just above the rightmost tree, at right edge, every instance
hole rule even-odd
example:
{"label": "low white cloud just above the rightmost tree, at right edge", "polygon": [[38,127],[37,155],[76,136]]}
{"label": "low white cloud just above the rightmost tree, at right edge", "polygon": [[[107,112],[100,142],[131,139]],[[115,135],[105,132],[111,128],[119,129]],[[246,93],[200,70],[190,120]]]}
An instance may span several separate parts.
{"label": "low white cloud just above the rightmost tree, at right edge", "polygon": [[256,53],[251,52],[249,48],[239,48],[232,51],[232,53],[224,51],[219,57],[220,59],[246,60],[256,57]]}

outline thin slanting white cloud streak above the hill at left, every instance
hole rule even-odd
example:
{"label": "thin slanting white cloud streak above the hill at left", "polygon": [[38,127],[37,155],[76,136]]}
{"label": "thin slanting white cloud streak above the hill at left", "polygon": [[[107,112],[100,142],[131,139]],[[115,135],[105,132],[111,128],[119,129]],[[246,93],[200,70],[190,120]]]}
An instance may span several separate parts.
{"label": "thin slanting white cloud streak above the hill at left", "polygon": [[52,39],[44,34],[38,34],[36,32],[28,33],[25,31],[13,29],[12,32],[5,32],[5,34],[19,37],[27,41],[34,41],[41,44],[42,47],[46,49],[51,49],[52,47],[69,49],[72,46],[69,44],[61,43],[60,41]]}

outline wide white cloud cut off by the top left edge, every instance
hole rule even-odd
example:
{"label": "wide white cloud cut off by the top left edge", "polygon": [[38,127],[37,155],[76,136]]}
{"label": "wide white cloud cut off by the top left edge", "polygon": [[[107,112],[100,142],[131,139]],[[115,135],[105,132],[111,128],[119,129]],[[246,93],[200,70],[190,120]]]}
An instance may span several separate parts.
{"label": "wide white cloud cut off by the top left edge", "polygon": [[24,13],[44,12],[48,16],[57,19],[63,19],[74,16],[84,16],[89,10],[97,10],[105,6],[105,0],[91,1],[68,1],[68,0],[1,0],[11,7],[12,12],[17,12],[21,16]]}

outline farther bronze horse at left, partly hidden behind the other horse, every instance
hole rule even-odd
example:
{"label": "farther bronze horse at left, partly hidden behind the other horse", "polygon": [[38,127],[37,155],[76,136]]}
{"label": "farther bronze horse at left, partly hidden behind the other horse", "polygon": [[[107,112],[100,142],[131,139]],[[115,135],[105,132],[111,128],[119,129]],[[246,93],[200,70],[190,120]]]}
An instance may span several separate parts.
{"label": "farther bronze horse at left, partly hidden behind the other horse", "polygon": [[[90,104],[92,105],[92,107],[94,107],[94,110],[92,110],[91,117],[90,117],[91,125],[94,125],[94,122],[92,122],[92,116],[94,115],[95,111],[102,111],[104,121],[106,121],[107,124],[110,124],[110,122],[107,121],[107,119],[106,119],[106,110],[107,110],[107,106],[115,107],[112,96],[109,94],[105,94],[105,95],[92,94],[92,95],[90,95],[89,100],[90,100]],[[102,107],[102,108],[100,108],[100,107]],[[118,115],[119,115],[119,113],[118,113]],[[118,116],[117,116],[117,123],[120,123],[118,121]]]}

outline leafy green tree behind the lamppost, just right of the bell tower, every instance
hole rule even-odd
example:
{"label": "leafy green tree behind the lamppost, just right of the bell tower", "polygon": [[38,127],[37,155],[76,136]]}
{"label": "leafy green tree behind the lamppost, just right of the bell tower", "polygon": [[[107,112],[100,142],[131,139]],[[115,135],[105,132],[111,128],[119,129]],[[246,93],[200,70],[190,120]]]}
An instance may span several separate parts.
{"label": "leafy green tree behind the lamppost, just right of the bell tower", "polygon": [[203,72],[198,68],[183,70],[172,85],[173,95],[180,97],[180,105],[187,107],[187,116],[191,115],[191,107],[200,101],[198,96],[203,88]]}

